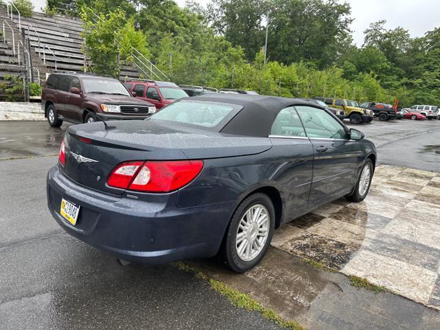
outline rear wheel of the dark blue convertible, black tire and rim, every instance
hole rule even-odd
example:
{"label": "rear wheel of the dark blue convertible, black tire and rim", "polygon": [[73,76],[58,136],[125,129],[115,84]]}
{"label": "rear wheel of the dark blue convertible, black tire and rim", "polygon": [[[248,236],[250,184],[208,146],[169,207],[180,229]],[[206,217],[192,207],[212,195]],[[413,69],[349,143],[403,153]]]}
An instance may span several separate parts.
{"label": "rear wheel of the dark blue convertible, black tire and rim", "polygon": [[[259,219],[263,219],[263,215],[266,215],[266,221],[259,224],[254,219],[248,219],[249,214],[253,212],[261,212]],[[243,227],[246,224],[248,224],[247,230]],[[240,203],[232,215],[223,239],[221,259],[234,272],[244,273],[251,270],[263,259],[269,248],[274,227],[275,209],[270,198],[263,193],[250,195]],[[260,235],[264,233],[265,236]],[[259,245],[255,242],[259,242]]]}

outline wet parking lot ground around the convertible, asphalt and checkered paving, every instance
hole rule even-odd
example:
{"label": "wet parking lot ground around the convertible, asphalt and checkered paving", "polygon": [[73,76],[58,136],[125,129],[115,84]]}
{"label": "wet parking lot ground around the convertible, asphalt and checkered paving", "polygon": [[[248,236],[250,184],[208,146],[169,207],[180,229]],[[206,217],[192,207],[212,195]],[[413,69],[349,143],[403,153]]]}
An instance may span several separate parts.
{"label": "wet parking lot ground around the convertible, asphalt and checkered paving", "polygon": [[[121,266],[65,234],[45,197],[65,127],[0,122],[1,329],[278,328],[173,265]],[[309,329],[440,329],[440,122],[355,127],[381,163],[365,201],[339,200],[283,225],[246,274],[190,263]],[[395,294],[357,289],[346,275]]]}

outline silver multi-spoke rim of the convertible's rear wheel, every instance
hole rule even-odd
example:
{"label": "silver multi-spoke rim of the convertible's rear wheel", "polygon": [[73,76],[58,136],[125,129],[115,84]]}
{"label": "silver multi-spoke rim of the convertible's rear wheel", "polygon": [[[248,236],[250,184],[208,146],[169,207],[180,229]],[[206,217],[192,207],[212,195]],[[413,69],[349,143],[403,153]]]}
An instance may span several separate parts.
{"label": "silver multi-spoke rim of the convertible's rear wheel", "polygon": [[235,249],[243,261],[252,261],[263,250],[269,234],[269,212],[261,204],[248,208],[236,231]]}

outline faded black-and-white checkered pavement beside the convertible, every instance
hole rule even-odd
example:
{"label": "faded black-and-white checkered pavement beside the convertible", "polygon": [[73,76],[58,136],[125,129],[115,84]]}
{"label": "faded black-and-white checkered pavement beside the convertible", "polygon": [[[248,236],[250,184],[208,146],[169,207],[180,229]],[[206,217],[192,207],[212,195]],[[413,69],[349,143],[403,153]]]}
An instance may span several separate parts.
{"label": "faded black-and-white checkered pavement beside the convertible", "polygon": [[440,310],[440,173],[378,166],[361,203],[335,201],[272,245]]}

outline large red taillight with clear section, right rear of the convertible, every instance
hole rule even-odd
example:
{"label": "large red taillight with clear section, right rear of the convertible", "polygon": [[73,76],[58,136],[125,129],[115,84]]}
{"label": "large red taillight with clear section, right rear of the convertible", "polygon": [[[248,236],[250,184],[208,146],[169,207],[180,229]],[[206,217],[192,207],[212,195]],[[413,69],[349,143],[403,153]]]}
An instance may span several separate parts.
{"label": "large red taillight with clear section, right rear of the convertible", "polygon": [[169,192],[189,184],[201,168],[201,160],[126,162],[116,166],[107,184],[136,191]]}

